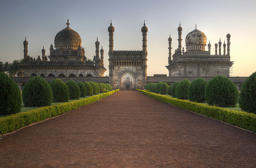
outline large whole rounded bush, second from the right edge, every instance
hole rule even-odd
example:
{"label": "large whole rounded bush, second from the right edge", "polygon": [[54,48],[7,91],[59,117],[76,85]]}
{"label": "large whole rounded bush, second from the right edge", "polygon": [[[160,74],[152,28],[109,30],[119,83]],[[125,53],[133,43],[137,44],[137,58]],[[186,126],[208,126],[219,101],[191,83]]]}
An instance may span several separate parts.
{"label": "large whole rounded bush, second from the right edge", "polygon": [[223,75],[212,78],[205,87],[206,102],[211,106],[236,106],[238,94],[236,85]]}

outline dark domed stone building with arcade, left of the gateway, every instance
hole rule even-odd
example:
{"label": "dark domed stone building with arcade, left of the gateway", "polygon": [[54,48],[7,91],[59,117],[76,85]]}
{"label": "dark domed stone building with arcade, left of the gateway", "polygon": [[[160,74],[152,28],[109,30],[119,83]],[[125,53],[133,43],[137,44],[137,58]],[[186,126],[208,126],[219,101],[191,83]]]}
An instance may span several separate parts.
{"label": "dark domed stone building with arcade, left of the gateway", "polygon": [[[99,51],[99,41],[95,42],[96,53],[93,61],[88,61],[81,47],[80,35],[69,27],[59,31],[54,39],[54,47],[50,46],[50,55],[46,56],[43,46],[42,56],[37,58],[28,55],[28,41],[24,44],[24,74],[25,77],[103,77],[106,69],[103,66],[104,50]],[[99,57],[100,52],[100,57]]]}

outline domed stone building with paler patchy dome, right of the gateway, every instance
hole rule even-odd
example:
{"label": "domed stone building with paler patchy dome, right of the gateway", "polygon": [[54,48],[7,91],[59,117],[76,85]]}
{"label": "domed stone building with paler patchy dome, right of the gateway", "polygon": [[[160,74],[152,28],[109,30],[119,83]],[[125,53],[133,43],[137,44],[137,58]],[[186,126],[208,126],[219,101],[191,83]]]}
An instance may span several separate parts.
{"label": "domed stone building with paler patchy dome, right of the gateway", "polygon": [[[229,68],[233,62],[230,61],[230,34],[227,34],[227,53],[226,43],[223,44],[223,54],[221,54],[222,42],[215,44],[215,54],[211,54],[211,44],[208,44],[208,51],[205,51],[207,42],[206,35],[197,30],[187,34],[186,51],[181,46],[182,27],[178,27],[178,49],[172,56],[172,38],[169,37],[169,57],[166,68],[169,71],[169,77],[215,77],[224,75],[229,77]],[[172,57],[173,59],[172,59]]]}

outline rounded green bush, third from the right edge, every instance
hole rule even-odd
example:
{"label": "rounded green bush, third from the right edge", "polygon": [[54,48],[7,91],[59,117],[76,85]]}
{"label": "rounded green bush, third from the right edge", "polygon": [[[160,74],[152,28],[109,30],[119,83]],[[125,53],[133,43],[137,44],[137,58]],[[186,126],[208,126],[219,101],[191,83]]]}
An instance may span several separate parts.
{"label": "rounded green bush, third from the right edge", "polygon": [[207,81],[203,78],[195,79],[187,89],[187,97],[189,101],[205,102],[204,91]]}

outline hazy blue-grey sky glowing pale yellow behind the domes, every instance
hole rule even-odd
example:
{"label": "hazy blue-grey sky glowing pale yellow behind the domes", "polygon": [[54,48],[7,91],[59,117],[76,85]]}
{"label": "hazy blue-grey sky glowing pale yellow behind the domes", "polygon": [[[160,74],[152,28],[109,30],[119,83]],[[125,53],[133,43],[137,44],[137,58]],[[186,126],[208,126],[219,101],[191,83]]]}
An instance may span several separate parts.
{"label": "hazy blue-grey sky glowing pale yellow behind the domes", "polygon": [[[181,22],[182,46],[186,35],[197,29],[204,32],[211,54],[220,38],[222,43],[230,33],[230,60],[234,61],[232,76],[247,77],[256,71],[256,1],[173,1],[173,0],[0,0],[0,61],[12,62],[23,58],[23,41],[27,36],[28,54],[46,55],[55,35],[67,27],[81,37],[86,57],[93,59],[95,41],[104,49],[105,75],[109,75],[109,33],[112,19],[114,50],[142,50],[141,27],[147,32],[147,76],[168,74],[168,37],[172,37],[172,53],[178,48]],[[208,51],[208,47],[205,47]],[[223,52],[223,48],[222,48]]]}

